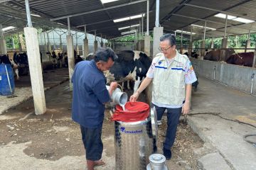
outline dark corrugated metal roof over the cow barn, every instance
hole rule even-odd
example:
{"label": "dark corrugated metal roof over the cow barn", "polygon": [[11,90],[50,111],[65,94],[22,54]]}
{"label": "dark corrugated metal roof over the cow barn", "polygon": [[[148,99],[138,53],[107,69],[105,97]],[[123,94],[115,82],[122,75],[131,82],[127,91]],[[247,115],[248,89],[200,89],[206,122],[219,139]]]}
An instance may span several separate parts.
{"label": "dark corrugated metal roof over the cow barn", "polygon": [[[138,24],[141,18],[131,21],[123,21],[114,23],[112,20],[123,18],[127,16],[134,16],[139,13],[146,13],[146,1],[140,1],[137,4],[122,6],[119,8],[111,8],[108,10],[97,11],[103,8],[110,8],[112,6],[121,6],[122,4],[133,3],[139,0],[120,0],[108,4],[102,4],[100,0],[30,0],[29,4],[33,13],[39,14],[41,18],[32,17],[33,26],[36,28],[67,28],[67,19],[60,19],[51,21],[50,19],[62,16],[70,16],[79,13],[92,11],[92,13],[82,14],[70,17],[70,24],[72,28],[87,24],[87,31],[97,30],[97,35],[103,34],[107,38],[114,38],[121,36],[123,31],[118,28],[123,26],[130,26]],[[149,14],[149,28],[153,30],[155,25],[155,0],[149,0],[150,14]],[[214,15],[220,11],[235,13],[237,16],[244,16],[244,18],[256,18],[256,0],[228,0],[228,1],[212,1],[212,0],[161,0],[159,20],[161,26],[164,26],[166,33],[173,33],[176,29],[183,29],[191,31],[191,24],[204,26],[205,21],[210,28],[217,30],[208,30],[206,37],[223,36],[225,19],[217,18]],[[1,10],[2,9],[2,10]],[[179,15],[179,16],[176,16]],[[12,16],[13,18],[11,18]],[[6,21],[6,19],[9,21]],[[201,19],[201,20],[198,20]],[[202,21],[203,20],[203,21]],[[4,23],[5,22],[5,23]],[[0,23],[4,26],[26,26],[26,9],[23,0],[7,1],[0,4]],[[63,23],[66,26],[58,25]],[[203,35],[203,28],[192,27],[195,39],[201,39]],[[83,27],[78,28],[81,31]],[[256,33],[256,24],[244,24],[238,21],[228,20],[227,32],[229,35],[247,33]],[[144,31],[146,30],[146,17],[144,17]],[[186,36],[186,35],[185,35]],[[189,36],[189,35],[188,35]]]}

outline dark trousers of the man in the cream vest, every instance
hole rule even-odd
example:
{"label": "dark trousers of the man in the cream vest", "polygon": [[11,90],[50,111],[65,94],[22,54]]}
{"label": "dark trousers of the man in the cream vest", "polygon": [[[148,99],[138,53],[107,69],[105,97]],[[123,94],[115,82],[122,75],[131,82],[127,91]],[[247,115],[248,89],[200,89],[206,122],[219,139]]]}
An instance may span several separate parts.
{"label": "dark trousers of the man in the cream vest", "polygon": [[[154,105],[155,106],[155,105]],[[164,141],[164,148],[171,149],[174,145],[174,140],[176,137],[176,130],[178,126],[178,120],[181,116],[182,108],[161,108],[159,106],[155,106],[157,120],[161,120],[163,117],[164,111],[167,109],[167,130],[166,130],[166,138]]]}

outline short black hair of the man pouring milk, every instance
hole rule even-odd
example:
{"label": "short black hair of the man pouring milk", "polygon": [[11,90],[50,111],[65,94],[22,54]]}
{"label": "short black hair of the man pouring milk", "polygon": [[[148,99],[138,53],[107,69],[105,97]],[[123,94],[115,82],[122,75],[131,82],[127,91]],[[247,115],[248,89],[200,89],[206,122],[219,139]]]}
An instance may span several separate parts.
{"label": "short black hair of the man pouring milk", "polygon": [[107,47],[107,48],[100,47],[98,48],[95,54],[94,60],[95,62],[100,62],[100,61],[107,62],[110,58],[114,62],[114,60],[117,60],[118,57],[110,47]]}

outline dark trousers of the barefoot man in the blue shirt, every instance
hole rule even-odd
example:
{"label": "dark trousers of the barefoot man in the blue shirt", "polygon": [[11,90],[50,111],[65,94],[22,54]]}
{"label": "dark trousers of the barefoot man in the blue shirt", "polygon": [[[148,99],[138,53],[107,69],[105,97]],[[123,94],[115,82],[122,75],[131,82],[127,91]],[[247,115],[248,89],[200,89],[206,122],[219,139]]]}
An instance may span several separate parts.
{"label": "dark trousers of the barefoot man in the blue shirt", "polygon": [[99,128],[85,128],[80,125],[82,142],[85,146],[86,159],[100,160],[102,157],[103,143],[101,140],[102,125]]}

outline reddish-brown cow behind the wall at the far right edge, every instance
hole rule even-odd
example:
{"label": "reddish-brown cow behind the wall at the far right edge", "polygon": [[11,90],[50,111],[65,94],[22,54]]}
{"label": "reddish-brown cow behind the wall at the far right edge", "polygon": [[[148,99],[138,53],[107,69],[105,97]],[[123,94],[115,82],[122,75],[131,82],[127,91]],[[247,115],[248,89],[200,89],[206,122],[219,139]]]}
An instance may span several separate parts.
{"label": "reddish-brown cow behind the wall at the far right edge", "polygon": [[254,52],[239,52],[234,55],[230,55],[225,62],[228,64],[236,64],[247,67],[252,67]]}

